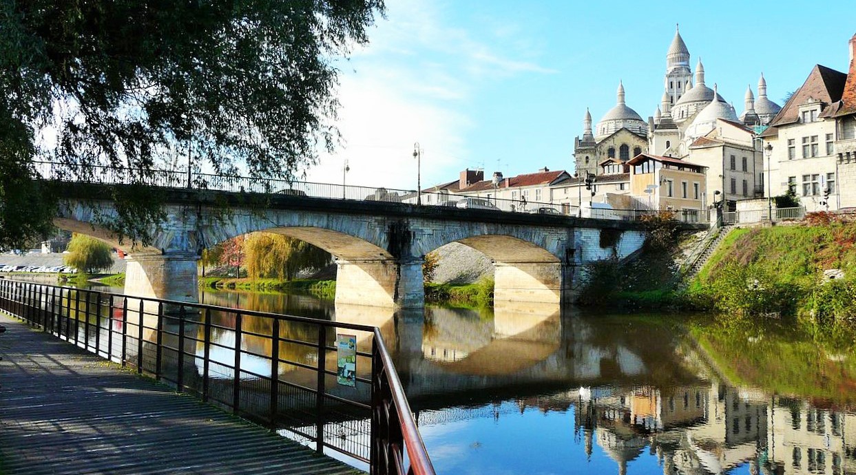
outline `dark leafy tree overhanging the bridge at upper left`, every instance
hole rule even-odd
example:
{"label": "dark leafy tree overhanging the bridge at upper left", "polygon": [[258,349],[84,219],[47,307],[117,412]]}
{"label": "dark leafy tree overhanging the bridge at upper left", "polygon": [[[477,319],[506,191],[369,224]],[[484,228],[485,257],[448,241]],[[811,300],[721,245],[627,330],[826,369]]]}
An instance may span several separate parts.
{"label": "dark leafy tree overhanging the bridge at upper left", "polygon": [[[83,175],[127,167],[140,184],[188,154],[216,173],[300,175],[338,140],[336,56],[366,43],[383,11],[383,0],[0,3],[0,246],[50,223],[35,159]],[[150,237],[158,199],[113,193],[123,205],[105,224]]]}

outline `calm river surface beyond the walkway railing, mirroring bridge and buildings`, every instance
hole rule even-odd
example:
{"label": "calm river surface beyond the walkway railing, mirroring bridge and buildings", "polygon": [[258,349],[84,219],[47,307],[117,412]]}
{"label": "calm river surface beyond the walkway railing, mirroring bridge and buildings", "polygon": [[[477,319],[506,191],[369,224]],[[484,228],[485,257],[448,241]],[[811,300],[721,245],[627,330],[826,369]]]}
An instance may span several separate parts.
{"label": "calm river surface beyond the walkway railing, mirroring bridge and buildings", "polygon": [[200,300],[381,327],[437,473],[856,473],[853,349],[784,324]]}

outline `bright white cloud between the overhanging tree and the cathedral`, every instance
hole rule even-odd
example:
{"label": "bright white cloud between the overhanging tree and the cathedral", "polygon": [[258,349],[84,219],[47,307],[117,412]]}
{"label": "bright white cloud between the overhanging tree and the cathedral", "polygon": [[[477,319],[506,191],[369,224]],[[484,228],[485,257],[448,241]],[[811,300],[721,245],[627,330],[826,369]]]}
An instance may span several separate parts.
{"label": "bright white cloud between the overhanging tree and the cathedral", "polygon": [[532,56],[503,38],[514,25],[500,33],[451,27],[443,3],[427,0],[390,3],[387,16],[369,32],[371,44],[342,65],[336,124],[345,144],[307,170],[309,181],[341,183],[348,159],[349,185],[415,189],[414,141],[424,151],[423,187],[454,179],[472,163],[464,157],[479,88],[514,74],[555,72],[512,57]]}

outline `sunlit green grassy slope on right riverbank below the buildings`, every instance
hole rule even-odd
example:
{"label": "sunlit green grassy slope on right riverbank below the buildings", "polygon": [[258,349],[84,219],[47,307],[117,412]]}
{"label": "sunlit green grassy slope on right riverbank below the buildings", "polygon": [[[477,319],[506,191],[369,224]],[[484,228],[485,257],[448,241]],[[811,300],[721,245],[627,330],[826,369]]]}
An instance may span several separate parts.
{"label": "sunlit green grassy slope on right riverbank below the buildings", "polygon": [[[736,229],[690,282],[686,306],[856,323],[856,223]],[[841,270],[829,280],[824,270]]]}

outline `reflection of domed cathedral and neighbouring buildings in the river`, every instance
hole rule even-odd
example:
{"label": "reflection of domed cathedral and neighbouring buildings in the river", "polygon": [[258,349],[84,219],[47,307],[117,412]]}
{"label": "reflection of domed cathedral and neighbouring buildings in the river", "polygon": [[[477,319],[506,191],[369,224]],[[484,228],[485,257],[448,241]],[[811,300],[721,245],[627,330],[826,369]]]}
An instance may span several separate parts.
{"label": "reflection of domed cathedral and neighbouring buildings in the river", "polygon": [[574,431],[619,472],[645,450],[663,473],[856,473],[856,416],[803,401],[758,397],[711,384],[669,390],[583,388]]}

